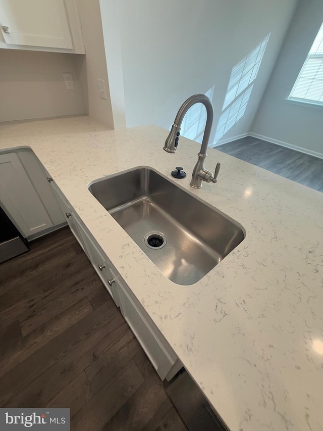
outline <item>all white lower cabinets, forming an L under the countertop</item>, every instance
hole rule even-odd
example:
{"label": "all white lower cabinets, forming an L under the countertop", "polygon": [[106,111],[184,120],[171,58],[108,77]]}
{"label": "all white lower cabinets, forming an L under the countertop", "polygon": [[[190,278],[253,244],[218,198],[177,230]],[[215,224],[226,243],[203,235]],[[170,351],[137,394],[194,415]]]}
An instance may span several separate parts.
{"label": "all white lower cabinets, forming an L under the countertop", "polygon": [[[17,154],[15,152],[0,154],[0,204],[27,238],[34,237],[48,228],[55,228],[65,219],[106,290],[117,306],[120,306],[124,318],[160,378],[171,379],[179,371],[182,364],[173,349],[55,181],[50,177],[46,178],[43,167],[39,168],[38,160],[27,150]],[[63,218],[59,207],[63,211]]]}

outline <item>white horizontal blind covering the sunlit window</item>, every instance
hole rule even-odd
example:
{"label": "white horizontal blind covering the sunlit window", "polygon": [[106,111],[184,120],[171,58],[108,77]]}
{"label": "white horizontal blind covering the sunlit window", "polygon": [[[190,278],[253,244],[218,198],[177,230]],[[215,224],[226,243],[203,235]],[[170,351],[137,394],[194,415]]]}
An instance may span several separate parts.
{"label": "white horizontal blind covering the sunlit window", "polygon": [[288,99],[323,105],[323,24]]}

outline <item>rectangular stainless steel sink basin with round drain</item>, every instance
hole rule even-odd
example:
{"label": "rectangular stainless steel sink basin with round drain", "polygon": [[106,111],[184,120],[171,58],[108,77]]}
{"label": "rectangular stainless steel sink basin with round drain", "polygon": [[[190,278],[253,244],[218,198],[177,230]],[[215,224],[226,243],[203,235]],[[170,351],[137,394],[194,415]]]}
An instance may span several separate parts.
{"label": "rectangular stainless steel sink basin with round drain", "polygon": [[239,223],[149,167],[97,179],[88,189],[177,284],[196,283],[245,237]]}

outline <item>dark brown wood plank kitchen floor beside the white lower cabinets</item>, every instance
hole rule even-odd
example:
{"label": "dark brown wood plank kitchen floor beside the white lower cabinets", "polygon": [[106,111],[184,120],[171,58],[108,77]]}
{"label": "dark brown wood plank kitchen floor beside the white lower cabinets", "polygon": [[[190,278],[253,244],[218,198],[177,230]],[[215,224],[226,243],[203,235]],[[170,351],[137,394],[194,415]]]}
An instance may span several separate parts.
{"label": "dark brown wood plank kitchen floor beside the white lower cabinets", "polygon": [[69,407],[72,431],[186,430],[69,228],[0,265],[0,407]]}

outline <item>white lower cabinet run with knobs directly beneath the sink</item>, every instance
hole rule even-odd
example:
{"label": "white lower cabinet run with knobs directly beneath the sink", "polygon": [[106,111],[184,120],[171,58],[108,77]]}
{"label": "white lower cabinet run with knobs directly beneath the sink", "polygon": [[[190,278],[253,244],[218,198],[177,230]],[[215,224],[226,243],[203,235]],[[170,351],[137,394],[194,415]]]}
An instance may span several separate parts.
{"label": "white lower cabinet run with knobs directly beneath the sink", "polygon": [[74,212],[74,209],[66,200],[59,187],[53,181],[51,181],[51,184],[66,214],[71,231],[87,254],[106,290],[112,296],[117,306],[120,307],[122,315],[159,377],[162,380],[165,378],[170,380],[182,367],[175,352],[148,316],[129,286],[113,267],[110,259],[94,240],[92,234]]}

